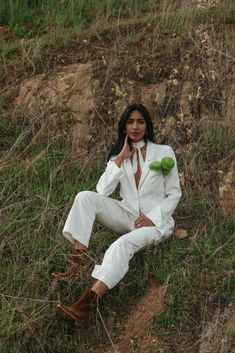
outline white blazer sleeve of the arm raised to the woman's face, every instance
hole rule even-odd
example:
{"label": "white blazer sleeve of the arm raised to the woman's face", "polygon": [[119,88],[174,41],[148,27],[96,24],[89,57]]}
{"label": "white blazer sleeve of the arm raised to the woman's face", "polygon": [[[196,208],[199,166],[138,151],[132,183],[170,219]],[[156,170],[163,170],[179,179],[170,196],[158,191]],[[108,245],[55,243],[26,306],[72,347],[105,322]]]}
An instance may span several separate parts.
{"label": "white blazer sleeve of the arm raised to the woman's face", "polygon": [[104,196],[111,195],[119,184],[119,178],[122,174],[122,167],[119,168],[115,163],[114,158],[111,158],[96,185],[97,192]]}

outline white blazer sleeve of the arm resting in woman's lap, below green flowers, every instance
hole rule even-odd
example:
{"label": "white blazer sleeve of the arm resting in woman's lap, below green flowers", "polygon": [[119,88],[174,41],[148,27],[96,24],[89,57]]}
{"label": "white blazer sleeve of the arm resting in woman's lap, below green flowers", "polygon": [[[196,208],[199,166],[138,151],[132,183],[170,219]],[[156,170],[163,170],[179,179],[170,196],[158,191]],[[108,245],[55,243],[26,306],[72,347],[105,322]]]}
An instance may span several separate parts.
{"label": "white blazer sleeve of the arm resting in woman's lap, below green flowers", "polygon": [[175,165],[170,174],[164,177],[165,197],[160,205],[154,207],[148,214],[146,214],[146,216],[160,228],[164,227],[167,220],[171,217],[182,196],[176,157],[170,146],[169,157],[174,159]]}

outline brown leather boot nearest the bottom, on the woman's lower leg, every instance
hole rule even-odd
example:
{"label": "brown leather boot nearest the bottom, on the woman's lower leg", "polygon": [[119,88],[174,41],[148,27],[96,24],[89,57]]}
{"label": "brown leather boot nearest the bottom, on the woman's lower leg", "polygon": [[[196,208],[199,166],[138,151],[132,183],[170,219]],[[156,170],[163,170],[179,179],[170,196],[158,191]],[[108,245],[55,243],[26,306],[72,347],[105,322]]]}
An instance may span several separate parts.
{"label": "brown leather boot nearest the bottom, on the woman's lower leg", "polygon": [[94,316],[97,304],[97,294],[86,288],[80,299],[70,305],[57,304],[57,308],[68,318],[75,321],[78,326],[85,326]]}

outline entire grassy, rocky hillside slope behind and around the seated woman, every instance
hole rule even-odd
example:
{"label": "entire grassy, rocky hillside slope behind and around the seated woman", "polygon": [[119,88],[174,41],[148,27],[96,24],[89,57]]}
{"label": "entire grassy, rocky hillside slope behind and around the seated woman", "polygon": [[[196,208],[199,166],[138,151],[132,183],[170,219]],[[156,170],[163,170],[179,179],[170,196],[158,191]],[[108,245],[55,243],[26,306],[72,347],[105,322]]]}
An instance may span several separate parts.
{"label": "entire grassy, rocky hillside slope behind and around the seated woman", "polygon": [[[53,11],[47,23],[35,22],[33,10],[28,22],[4,12],[1,352],[230,353],[234,2],[119,1],[115,11],[101,3],[78,26],[53,22]],[[157,141],[176,151],[183,198],[174,218],[186,232],[137,254],[100,303],[105,327],[98,315],[78,330],[56,303],[73,302],[91,279],[52,281],[70,258],[61,230],[76,193],[94,190],[120,113],[133,101],[151,111]],[[95,226],[88,274],[115,238]]]}

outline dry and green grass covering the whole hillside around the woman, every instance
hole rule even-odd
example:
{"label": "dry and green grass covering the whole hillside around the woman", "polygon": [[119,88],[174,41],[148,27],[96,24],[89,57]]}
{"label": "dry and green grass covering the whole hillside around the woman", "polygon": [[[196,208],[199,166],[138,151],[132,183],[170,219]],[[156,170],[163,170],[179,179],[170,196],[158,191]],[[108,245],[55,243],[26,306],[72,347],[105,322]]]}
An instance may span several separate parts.
{"label": "dry and green grass covering the whole hillside around the woman", "polygon": [[[1,25],[11,28],[8,36],[0,38],[1,82],[10,79],[9,68],[17,68],[19,81],[35,73],[48,74],[52,68],[55,72],[57,54],[66,58],[63,65],[83,62],[89,57],[96,62],[94,83],[99,84],[94,89],[99,105],[96,117],[104,117],[110,129],[116,124],[115,107],[123,104],[123,95],[128,92],[127,80],[141,84],[167,82],[177,68],[179,81],[193,83],[192,116],[180,121],[181,84],[167,86],[166,105],[156,124],[159,142],[169,143],[179,152],[185,186],[175,217],[190,236],[183,240],[172,237],[157,248],[137,254],[127,276],[100,303],[112,331],[111,312],[115,312],[118,318],[115,320],[121,320],[133,301],[143,295],[149,276],[158,284],[167,283],[165,312],[153,313],[149,332],[161,335],[173,346],[176,337],[184,335],[189,343],[186,348],[190,347],[200,338],[205,321],[213,318],[215,308],[222,311],[232,299],[234,286],[231,276],[234,220],[220,213],[218,178],[219,170],[225,174],[230,170],[235,147],[234,129],[224,119],[225,104],[230,103],[224,102],[222,94],[227,87],[234,49],[230,30],[234,23],[233,2],[226,0],[219,9],[202,11],[180,8],[180,2],[164,1],[57,1],[56,4],[28,1],[26,4],[18,0],[12,1],[11,7],[7,4],[2,1],[0,5]],[[203,24],[217,50],[213,60],[208,60],[194,33],[199,24]],[[89,42],[87,45],[82,42],[84,38]],[[75,59],[66,56],[71,50]],[[191,67],[192,73],[184,71],[184,65]],[[212,68],[218,74],[215,81],[211,79]],[[197,76],[199,69],[205,78]],[[198,85],[202,93],[196,98]],[[90,159],[89,155],[84,160],[84,156],[72,149],[66,134],[55,139],[40,138],[38,132],[46,123],[47,114],[37,112],[37,116],[30,117],[26,112],[16,112],[14,97],[18,88],[13,93],[0,98],[3,318],[0,350],[3,353],[105,351],[104,346],[109,342],[99,321],[87,332],[78,332],[56,311],[58,301],[74,301],[83,286],[57,284],[50,274],[64,268],[69,259],[70,246],[61,237],[63,223],[77,192],[95,189],[113,136],[102,129],[97,119],[92,131],[97,129],[94,138],[99,154],[96,159]],[[206,118],[204,107],[211,114]],[[169,116],[173,116],[175,125],[163,133],[164,119]],[[67,124],[66,116],[60,114],[60,131],[69,132],[72,124],[72,121]],[[192,137],[188,137],[187,128],[193,130]],[[115,234],[95,226],[91,242],[95,261],[102,259],[115,239]],[[93,266],[93,261],[90,265]],[[88,279],[84,286],[90,284]],[[179,351],[184,351],[182,347],[179,346]]]}

